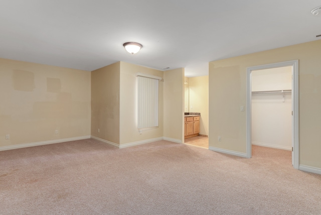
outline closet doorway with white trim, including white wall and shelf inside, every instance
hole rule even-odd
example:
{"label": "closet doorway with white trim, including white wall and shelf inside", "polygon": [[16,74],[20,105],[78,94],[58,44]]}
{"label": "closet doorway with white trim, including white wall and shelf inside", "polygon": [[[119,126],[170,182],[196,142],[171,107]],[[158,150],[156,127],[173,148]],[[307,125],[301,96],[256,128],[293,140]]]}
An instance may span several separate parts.
{"label": "closet doorway with white trim, including white wall and shelf inside", "polygon": [[247,157],[252,144],[292,151],[298,169],[298,61],[247,69]]}

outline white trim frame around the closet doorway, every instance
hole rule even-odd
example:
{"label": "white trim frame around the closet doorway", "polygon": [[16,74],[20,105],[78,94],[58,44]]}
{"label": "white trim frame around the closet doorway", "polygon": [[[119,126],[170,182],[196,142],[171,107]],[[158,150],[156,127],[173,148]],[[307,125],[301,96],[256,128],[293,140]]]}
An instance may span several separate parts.
{"label": "white trim frame around the closet doorway", "polygon": [[290,60],[279,63],[264,64],[247,68],[247,91],[246,91],[246,156],[252,157],[252,71],[261,69],[270,69],[276,67],[292,66],[292,165],[294,169],[299,168],[299,88],[298,88],[298,60]]}

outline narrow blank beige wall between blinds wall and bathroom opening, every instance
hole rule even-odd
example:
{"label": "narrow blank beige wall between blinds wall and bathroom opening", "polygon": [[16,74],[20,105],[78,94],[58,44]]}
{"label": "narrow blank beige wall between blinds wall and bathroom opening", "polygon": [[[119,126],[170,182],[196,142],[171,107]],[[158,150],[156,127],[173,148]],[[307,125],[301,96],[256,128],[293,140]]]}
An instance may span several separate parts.
{"label": "narrow blank beige wall between blinds wall and bathroom opening", "polygon": [[184,68],[164,72],[164,137],[184,141]]}

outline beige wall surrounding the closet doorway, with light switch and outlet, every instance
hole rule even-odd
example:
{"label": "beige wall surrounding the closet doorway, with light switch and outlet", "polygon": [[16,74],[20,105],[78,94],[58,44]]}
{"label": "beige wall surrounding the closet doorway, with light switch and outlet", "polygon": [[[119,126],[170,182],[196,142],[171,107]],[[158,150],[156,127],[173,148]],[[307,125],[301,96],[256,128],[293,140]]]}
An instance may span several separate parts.
{"label": "beige wall surrounding the closet doorway, with light switch and outlet", "polygon": [[[210,62],[209,145],[246,153],[246,68],[298,59],[299,164],[321,168],[320,47],[317,40]],[[241,105],[245,112],[240,112]]]}

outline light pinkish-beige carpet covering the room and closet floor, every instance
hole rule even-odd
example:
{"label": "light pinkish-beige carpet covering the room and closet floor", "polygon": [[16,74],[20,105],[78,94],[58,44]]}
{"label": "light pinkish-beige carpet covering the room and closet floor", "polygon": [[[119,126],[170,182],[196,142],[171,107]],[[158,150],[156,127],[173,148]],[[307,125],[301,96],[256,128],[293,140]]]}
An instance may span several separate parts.
{"label": "light pinkish-beige carpet covering the room and closet floor", "polygon": [[0,152],[1,214],[321,214],[321,175],[289,151],[245,159],[168,141]]}

